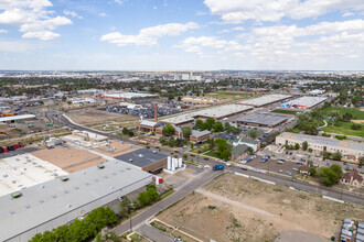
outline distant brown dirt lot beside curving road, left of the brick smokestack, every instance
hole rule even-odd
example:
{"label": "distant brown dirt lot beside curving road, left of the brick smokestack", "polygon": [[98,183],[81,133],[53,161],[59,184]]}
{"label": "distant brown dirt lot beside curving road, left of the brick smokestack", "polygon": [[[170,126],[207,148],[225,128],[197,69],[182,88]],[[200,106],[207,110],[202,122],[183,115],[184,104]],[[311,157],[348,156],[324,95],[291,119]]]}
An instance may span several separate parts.
{"label": "distant brown dirt lot beside curving road, left of the brick smokestack", "polygon": [[138,117],[107,112],[95,108],[77,109],[67,112],[67,116],[76,123],[97,125],[105,124],[105,122],[127,122],[139,120]]}

